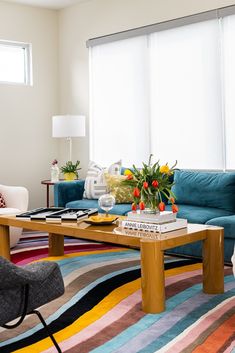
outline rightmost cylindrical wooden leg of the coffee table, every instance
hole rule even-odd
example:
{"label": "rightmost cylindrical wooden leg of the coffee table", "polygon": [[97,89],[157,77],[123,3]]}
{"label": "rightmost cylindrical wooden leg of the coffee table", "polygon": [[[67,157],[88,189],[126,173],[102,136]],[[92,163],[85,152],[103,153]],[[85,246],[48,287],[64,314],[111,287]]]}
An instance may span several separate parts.
{"label": "rightmost cylindrical wooden leg of the coffee table", "polygon": [[224,230],[207,229],[203,241],[203,291],[224,293]]}

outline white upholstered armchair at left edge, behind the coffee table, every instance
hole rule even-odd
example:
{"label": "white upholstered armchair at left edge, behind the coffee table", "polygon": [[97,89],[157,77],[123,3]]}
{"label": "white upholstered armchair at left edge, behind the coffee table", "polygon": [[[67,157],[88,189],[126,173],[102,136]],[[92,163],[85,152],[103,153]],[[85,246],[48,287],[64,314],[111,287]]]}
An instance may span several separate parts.
{"label": "white upholstered armchair at left edge, behind the coffee table", "polygon": [[[29,193],[22,186],[0,185],[0,193],[3,195],[6,208],[0,208],[0,215],[15,215],[28,209]],[[22,234],[21,228],[10,227],[10,247],[17,244]]]}

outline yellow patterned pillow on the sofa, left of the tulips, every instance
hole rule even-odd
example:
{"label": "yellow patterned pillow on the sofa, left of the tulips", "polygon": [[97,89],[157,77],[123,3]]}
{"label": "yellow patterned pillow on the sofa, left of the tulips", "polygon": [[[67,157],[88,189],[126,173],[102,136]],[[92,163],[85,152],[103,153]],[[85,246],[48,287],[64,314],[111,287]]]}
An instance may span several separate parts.
{"label": "yellow patterned pillow on the sofa, left of the tulips", "polygon": [[133,189],[128,185],[122,185],[126,179],[124,175],[111,175],[105,173],[107,190],[115,197],[116,203],[132,203]]}

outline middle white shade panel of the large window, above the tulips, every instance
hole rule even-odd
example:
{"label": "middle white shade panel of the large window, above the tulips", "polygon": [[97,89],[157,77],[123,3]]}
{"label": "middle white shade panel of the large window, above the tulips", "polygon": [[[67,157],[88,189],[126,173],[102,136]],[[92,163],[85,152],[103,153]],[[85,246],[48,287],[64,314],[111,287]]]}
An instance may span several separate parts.
{"label": "middle white shade panel of the large window, above the tulips", "polygon": [[179,168],[222,169],[218,21],[157,32],[150,43],[152,153]]}

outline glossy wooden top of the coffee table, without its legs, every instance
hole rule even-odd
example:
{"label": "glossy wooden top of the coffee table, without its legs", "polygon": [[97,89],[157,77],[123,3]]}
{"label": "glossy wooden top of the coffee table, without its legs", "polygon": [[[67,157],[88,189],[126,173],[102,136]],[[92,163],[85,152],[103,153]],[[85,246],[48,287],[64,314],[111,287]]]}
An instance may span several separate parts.
{"label": "glossy wooden top of the coffee table, without its legs", "polygon": [[[122,217],[123,219],[123,217]],[[74,238],[89,239],[99,242],[125,245],[130,247],[140,247],[140,241],[160,242],[162,250],[174,248],[176,246],[204,240],[207,237],[207,230],[221,230],[221,227],[188,224],[187,228],[178,229],[168,233],[150,233],[123,229],[117,224],[112,225],[89,225],[84,221],[62,223],[48,223],[45,221],[35,221],[19,219],[15,216],[0,216],[0,225],[15,226],[24,229],[37,230],[53,234],[72,236]]]}

